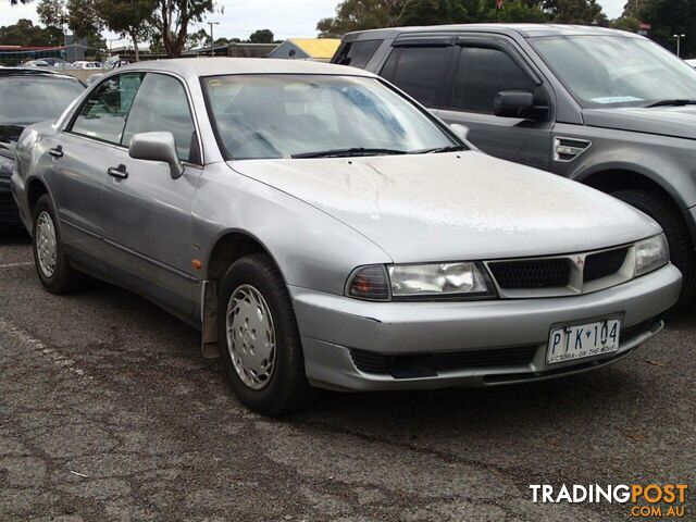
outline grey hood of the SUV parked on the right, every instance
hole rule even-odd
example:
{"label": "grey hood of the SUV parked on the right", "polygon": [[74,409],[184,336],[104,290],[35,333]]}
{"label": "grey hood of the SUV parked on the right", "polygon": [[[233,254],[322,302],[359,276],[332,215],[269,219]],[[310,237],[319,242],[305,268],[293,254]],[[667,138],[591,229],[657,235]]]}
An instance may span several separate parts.
{"label": "grey hood of the SUV parked on the right", "polygon": [[593,127],[696,139],[696,105],[585,109],[583,115]]}

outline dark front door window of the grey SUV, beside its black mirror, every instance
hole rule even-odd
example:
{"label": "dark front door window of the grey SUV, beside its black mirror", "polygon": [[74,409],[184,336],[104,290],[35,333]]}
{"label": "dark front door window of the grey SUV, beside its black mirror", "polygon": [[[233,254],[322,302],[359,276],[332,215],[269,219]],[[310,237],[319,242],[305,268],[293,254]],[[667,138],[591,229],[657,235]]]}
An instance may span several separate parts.
{"label": "dark front door window of the grey SUV, beside its black mirror", "polygon": [[493,114],[493,102],[501,90],[526,90],[544,96],[506,52],[483,47],[462,48],[455,75],[452,109]]}

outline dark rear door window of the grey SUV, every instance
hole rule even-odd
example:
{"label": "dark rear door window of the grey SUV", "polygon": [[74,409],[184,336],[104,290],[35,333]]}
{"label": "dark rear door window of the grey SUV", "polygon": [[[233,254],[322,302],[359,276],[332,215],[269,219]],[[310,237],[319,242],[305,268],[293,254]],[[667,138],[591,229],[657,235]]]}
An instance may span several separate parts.
{"label": "dark rear door window of the grey SUV", "polygon": [[401,47],[389,54],[384,75],[425,107],[434,107],[443,84],[451,47]]}

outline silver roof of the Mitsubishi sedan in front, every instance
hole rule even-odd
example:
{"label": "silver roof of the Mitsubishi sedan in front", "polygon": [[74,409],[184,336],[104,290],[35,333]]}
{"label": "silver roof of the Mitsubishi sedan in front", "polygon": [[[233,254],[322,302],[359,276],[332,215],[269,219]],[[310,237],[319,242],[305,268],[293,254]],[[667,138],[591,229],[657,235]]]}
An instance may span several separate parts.
{"label": "silver roof of the Mitsubishi sedan in front", "polygon": [[327,74],[368,76],[375,75],[366,71],[309,60],[275,60],[270,58],[177,58],[137,62],[119,67],[124,71],[163,71],[183,76],[217,76],[226,74]]}

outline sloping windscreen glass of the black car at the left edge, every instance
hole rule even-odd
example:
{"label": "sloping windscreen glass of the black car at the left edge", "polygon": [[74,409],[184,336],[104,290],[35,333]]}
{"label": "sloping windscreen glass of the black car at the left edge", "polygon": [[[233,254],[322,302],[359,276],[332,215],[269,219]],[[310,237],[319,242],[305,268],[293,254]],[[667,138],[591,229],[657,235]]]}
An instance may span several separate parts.
{"label": "sloping windscreen glass of the black car at the left edge", "polygon": [[38,75],[0,78],[0,125],[55,120],[85,87],[76,79]]}

